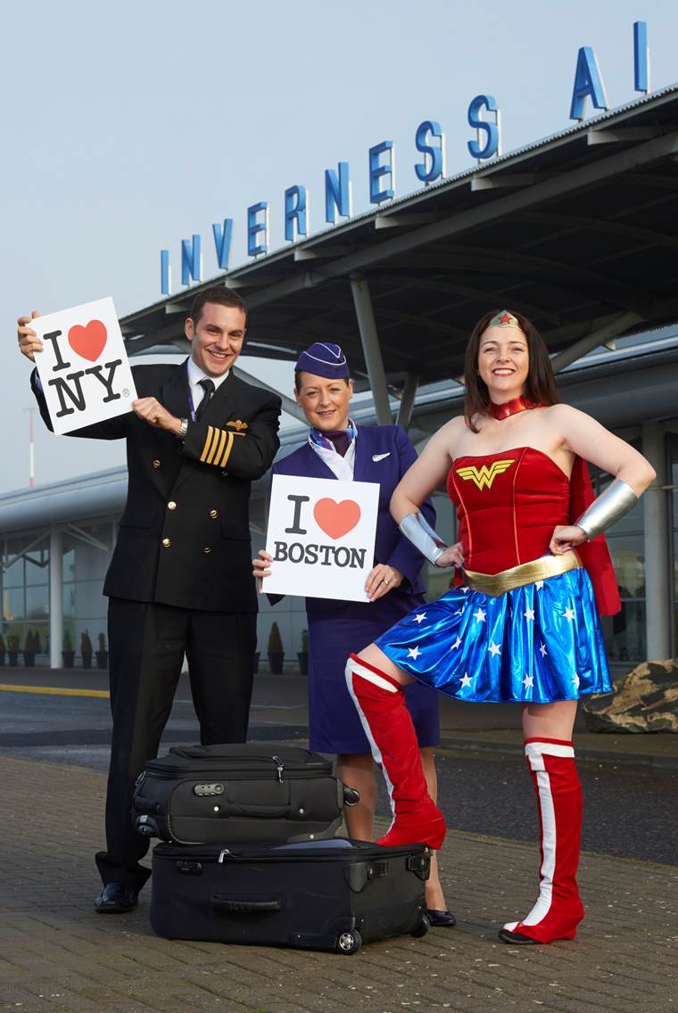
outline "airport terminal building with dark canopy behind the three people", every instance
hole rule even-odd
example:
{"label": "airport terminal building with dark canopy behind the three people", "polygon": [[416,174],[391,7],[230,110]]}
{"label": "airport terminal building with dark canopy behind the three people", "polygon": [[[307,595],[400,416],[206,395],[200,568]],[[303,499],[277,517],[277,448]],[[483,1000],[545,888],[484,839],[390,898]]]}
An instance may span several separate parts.
{"label": "airport terminal building with dark canopy behind the three people", "polygon": [[[418,448],[462,410],[463,349],[487,309],[534,321],[563,401],[629,441],[657,479],[609,533],[622,599],[604,620],[613,670],[676,653],[678,569],[678,88],[668,88],[401,200],[379,203],[312,238],[166,296],[121,321],[130,356],[183,356],[182,322],[201,285],[228,284],[249,309],[247,352],[294,361],[334,341],[370,390],[363,424],[398,421]],[[256,382],[256,381],[252,381]],[[299,417],[294,402],[284,407]],[[280,456],[306,439],[287,428]],[[593,473],[592,469],[592,473]],[[598,490],[609,476],[593,474]],[[124,469],[0,496],[2,635],[59,668],[81,634],[105,649],[103,576],[125,523]],[[268,479],[254,483],[252,549],[263,545]],[[443,490],[438,529],[454,538]],[[428,566],[428,564],[427,564]],[[449,572],[428,566],[428,590]],[[276,619],[296,664],[303,600],[262,600],[259,648]],[[99,643],[98,635],[103,635]],[[13,658],[12,658],[13,660]],[[102,659],[104,664],[104,659]]]}

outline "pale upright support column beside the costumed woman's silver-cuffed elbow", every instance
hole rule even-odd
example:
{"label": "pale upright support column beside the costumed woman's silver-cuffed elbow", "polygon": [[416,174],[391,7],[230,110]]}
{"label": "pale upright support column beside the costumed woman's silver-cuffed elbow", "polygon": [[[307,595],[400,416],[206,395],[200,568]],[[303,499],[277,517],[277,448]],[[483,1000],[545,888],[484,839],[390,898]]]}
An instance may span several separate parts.
{"label": "pale upright support column beside the costumed woman's silver-cuffed elbow", "polygon": [[664,430],[659,422],[644,422],[643,454],[657,478],[643,497],[645,529],[646,631],[648,658],[671,656],[671,586],[669,563],[669,493]]}

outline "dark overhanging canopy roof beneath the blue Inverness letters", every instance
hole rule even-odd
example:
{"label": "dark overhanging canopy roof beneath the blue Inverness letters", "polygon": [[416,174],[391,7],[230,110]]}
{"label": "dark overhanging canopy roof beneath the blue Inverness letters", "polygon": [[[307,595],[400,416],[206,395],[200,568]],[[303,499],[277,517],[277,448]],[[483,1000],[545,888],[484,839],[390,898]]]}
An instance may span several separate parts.
{"label": "dark overhanging canopy roof beneath the blue Inverness letters", "polygon": [[671,322],[677,157],[674,85],[132,313],[129,352],[182,346],[191,300],[224,282],[252,311],[244,355],[291,359],[325,339],[360,374],[354,298],[366,281],[394,386],[458,376],[493,308],[525,313],[552,353]]}

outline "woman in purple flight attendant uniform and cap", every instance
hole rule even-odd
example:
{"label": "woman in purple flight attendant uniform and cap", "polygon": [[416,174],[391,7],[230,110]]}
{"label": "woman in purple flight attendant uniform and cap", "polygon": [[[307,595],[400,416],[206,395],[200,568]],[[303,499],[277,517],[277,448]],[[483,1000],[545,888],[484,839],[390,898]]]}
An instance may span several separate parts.
{"label": "woman in purple flight attendant uniform and cap", "polygon": [[[397,425],[362,426],[353,422],[349,415],[353,380],[337,344],[316,342],[302,352],[295,368],[294,394],[310,425],[308,439],[303,447],[276,462],[272,473],[377,482],[380,487],[375,565],[366,589],[370,601],[306,599],[309,746],[320,753],[337,755],[338,777],[357,788],[361,796],[359,804],[345,812],[349,834],[370,841],[377,800],[374,764],[370,744],[347,690],[342,651],[347,642],[365,646],[425,604],[421,576],[424,555],[398,531],[388,510],[395,486],[417,460],[417,451]],[[422,510],[435,522],[436,515],[426,497]],[[262,550],[252,564],[254,576],[265,578],[271,572],[272,557]],[[279,598],[272,595],[270,600],[275,604]],[[407,690],[406,705],[415,725],[415,749],[435,794],[434,747],[440,741],[438,701],[423,687],[412,685]],[[435,862],[426,894],[432,924],[453,926],[454,916],[446,908]]]}

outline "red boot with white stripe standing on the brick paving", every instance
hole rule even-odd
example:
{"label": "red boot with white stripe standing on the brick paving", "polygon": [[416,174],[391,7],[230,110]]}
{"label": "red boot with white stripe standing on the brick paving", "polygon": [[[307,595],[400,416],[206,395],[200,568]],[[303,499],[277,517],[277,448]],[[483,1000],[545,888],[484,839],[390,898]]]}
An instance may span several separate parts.
{"label": "red boot with white stripe standing on the brick paving", "polygon": [[582,835],[582,785],[571,742],[526,738],[527,759],[539,810],[539,895],[529,915],[500,930],[507,943],[574,939],[584,918],[577,886]]}

